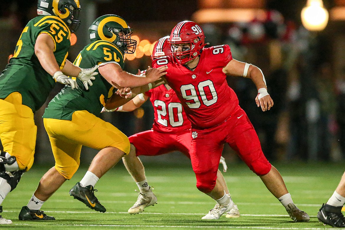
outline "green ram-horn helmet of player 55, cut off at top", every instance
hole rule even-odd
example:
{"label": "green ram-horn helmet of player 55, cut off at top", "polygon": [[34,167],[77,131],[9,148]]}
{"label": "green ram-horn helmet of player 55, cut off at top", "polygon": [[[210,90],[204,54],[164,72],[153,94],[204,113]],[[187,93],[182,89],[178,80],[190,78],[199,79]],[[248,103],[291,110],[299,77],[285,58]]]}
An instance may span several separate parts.
{"label": "green ram-horn helmet of player 55, cut off at top", "polygon": [[37,14],[57,16],[64,21],[71,32],[75,32],[79,25],[79,0],[38,0]]}

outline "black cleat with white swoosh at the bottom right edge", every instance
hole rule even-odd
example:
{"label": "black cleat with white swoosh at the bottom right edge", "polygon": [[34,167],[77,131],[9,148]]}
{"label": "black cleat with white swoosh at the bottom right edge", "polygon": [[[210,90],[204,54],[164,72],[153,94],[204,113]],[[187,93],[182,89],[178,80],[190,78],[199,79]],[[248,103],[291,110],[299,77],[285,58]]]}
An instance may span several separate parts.
{"label": "black cleat with white swoosh at the bottom right edge", "polygon": [[335,207],[329,204],[322,204],[317,219],[324,223],[337,228],[345,228],[345,217],[342,213],[342,206]]}

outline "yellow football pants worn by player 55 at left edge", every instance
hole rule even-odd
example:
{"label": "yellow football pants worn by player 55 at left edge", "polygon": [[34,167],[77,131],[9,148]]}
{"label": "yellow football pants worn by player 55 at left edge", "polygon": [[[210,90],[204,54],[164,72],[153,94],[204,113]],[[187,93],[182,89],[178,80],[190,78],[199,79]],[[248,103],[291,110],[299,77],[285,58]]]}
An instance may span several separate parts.
{"label": "yellow football pants worn by player 55 at left edge", "polygon": [[0,139],[3,150],[15,156],[19,169],[27,171],[33,163],[37,127],[33,121],[33,112],[22,105],[19,92],[11,93],[0,99]]}

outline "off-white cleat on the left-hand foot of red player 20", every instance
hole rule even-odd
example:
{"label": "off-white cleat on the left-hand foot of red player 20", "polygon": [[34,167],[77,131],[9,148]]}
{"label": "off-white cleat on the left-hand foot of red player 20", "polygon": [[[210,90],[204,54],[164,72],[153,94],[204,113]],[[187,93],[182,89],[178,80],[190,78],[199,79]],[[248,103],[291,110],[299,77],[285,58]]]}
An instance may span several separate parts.
{"label": "off-white cleat on the left-hand foot of red player 20", "polygon": [[137,202],[135,202],[135,204],[133,204],[133,206],[128,209],[128,213],[130,214],[138,214],[139,212],[144,211],[144,209],[148,206],[154,206],[157,203],[157,197],[155,196],[155,194],[152,192],[151,190],[151,186],[150,188],[145,191],[145,192],[138,192],[137,190],[135,190],[136,192],[139,193]]}

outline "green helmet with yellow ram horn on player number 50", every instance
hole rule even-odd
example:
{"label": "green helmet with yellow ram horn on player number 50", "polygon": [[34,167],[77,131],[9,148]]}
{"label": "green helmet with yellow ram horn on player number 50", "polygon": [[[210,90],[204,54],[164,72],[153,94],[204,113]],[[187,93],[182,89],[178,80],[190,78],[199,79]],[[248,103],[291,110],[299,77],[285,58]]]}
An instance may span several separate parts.
{"label": "green helmet with yellow ram horn on player number 50", "polygon": [[132,29],[127,22],[115,14],[107,14],[97,18],[89,27],[91,42],[97,40],[110,41],[122,53],[134,53],[137,41],[131,39]]}

